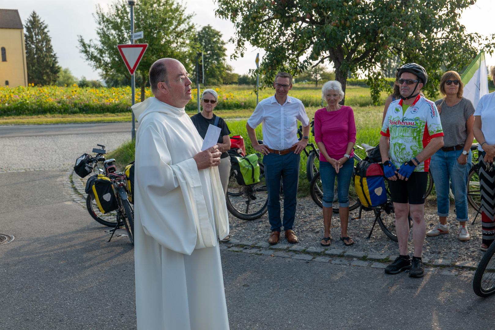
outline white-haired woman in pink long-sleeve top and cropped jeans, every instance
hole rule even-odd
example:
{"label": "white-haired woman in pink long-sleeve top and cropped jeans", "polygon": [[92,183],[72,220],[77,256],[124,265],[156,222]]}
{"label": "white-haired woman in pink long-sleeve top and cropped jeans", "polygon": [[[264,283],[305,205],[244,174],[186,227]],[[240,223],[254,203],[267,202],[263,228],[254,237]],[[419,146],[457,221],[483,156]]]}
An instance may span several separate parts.
{"label": "white-haired woman in pink long-sleeve top and cropped jeans", "polygon": [[354,112],[350,106],[339,104],[344,98],[342,85],[335,80],[326,82],[321,94],[328,105],[314,114],[314,139],[320,150],[320,178],[323,185],[323,224],[325,233],[321,245],[331,243],[330,224],[334,185],[337,177],[337,196],[341,220],[340,239],[344,245],[354,244],[347,234],[349,219],[349,185],[354,169],[354,151],[356,142],[356,124]]}

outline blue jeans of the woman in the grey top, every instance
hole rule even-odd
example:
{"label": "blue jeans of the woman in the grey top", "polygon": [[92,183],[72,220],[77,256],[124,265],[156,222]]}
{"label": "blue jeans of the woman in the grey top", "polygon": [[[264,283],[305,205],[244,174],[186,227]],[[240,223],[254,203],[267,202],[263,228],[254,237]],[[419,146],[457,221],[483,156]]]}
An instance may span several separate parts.
{"label": "blue jeans of the woman in the grey top", "polygon": [[438,150],[431,158],[430,172],[437,190],[438,216],[448,217],[449,189],[450,183],[452,183],[457,221],[468,221],[466,184],[467,176],[472,166],[473,154],[469,150],[465,165],[457,162],[457,158],[461,154],[462,150]]}

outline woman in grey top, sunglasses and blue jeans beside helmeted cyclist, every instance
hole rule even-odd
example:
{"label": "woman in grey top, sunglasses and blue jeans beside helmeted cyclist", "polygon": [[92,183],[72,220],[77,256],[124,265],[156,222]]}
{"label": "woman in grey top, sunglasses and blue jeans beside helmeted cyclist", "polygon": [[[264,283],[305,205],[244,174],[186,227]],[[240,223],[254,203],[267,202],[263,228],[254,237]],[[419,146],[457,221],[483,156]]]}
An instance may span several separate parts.
{"label": "woman in grey top, sunglasses and blue jeans beside helmeted cyclist", "polygon": [[444,129],[444,146],[431,158],[430,171],[437,190],[437,214],[440,223],[427,236],[448,234],[449,188],[455,197],[455,210],[459,222],[459,239],[469,240],[466,227],[467,214],[467,176],[471,169],[473,143],[474,107],[473,103],[462,97],[463,84],[455,71],[447,71],[440,80],[440,92],[445,96],[435,102],[440,112]]}

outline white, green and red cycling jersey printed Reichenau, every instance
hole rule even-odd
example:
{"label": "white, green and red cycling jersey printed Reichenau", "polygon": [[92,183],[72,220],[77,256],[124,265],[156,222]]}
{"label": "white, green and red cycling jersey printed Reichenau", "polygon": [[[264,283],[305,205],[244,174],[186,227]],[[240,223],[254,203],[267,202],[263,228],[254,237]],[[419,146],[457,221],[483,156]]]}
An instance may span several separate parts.
{"label": "white, green and red cycling jersey printed Reichenau", "polygon": [[[390,137],[389,157],[398,168],[423,151],[431,138],[444,136],[435,102],[418,94],[402,112],[402,99],[390,103],[380,134]],[[415,172],[428,172],[430,158],[420,163]]]}

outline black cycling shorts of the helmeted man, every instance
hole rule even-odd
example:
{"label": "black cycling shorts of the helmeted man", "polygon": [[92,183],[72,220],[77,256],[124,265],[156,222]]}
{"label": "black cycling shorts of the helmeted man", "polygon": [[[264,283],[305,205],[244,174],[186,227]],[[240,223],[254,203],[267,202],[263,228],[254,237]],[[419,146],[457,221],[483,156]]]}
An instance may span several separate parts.
{"label": "black cycling shorts of the helmeted man", "polygon": [[412,172],[407,181],[389,180],[389,190],[392,201],[395,203],[424,204],[428,172]]}

